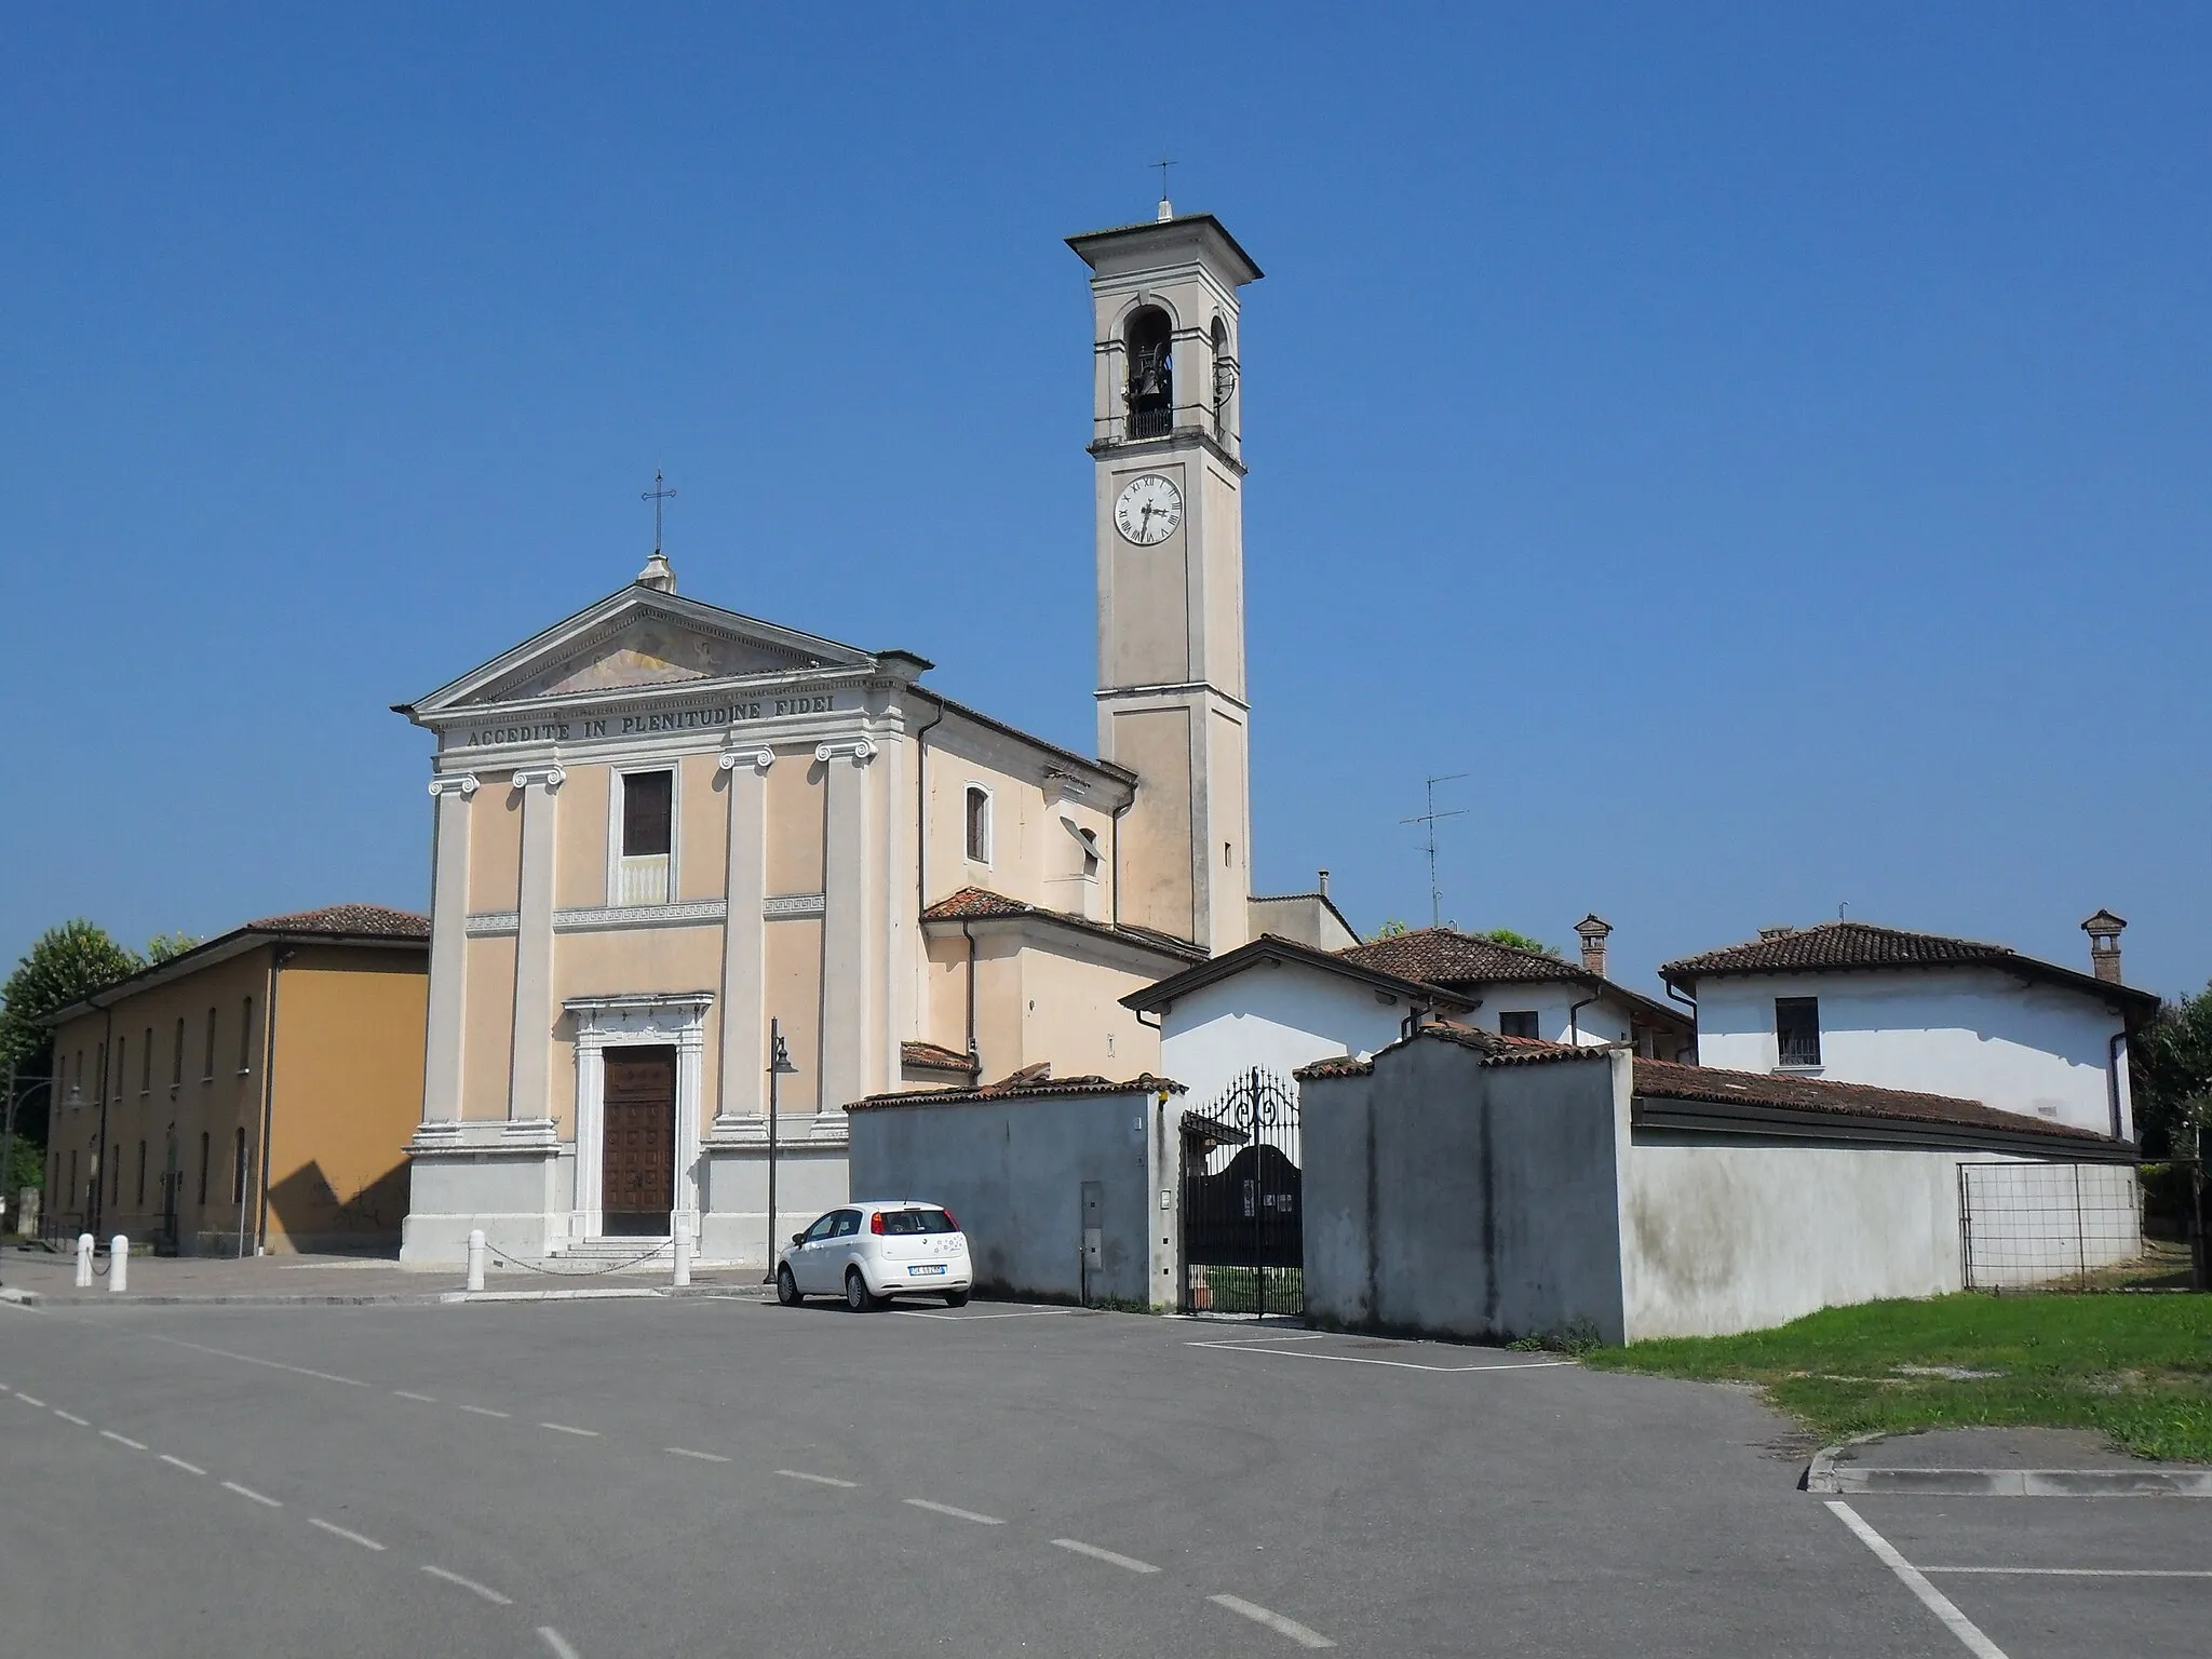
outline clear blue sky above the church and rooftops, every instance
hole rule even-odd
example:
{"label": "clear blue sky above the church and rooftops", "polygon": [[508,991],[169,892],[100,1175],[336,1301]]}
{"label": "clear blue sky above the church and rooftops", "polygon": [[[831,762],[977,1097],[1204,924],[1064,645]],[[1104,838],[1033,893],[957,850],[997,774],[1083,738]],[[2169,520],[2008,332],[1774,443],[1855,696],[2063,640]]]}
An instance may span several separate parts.
{"label": "clear blue sky above the church and rooftops", "polygon": [[[1256,876],[2212,975],[2212,13],[102,7],[0,51],[0,953],[420,907],[624,584],[1088,748],[1073,230],[1245,290]],[[1774,15],[1770,15],[1774,13]]]}

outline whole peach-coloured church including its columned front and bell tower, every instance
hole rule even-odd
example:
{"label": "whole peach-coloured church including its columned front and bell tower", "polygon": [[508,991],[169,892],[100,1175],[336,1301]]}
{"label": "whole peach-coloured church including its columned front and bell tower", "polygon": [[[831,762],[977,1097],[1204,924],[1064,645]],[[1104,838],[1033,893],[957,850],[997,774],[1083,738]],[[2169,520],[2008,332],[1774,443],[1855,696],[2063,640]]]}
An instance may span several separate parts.
{"label": "whole peach-coloured church including its columned front and bell tower", "polygon": [[[1071,237],[1095,301],[1097,734],[639,577],[398,708],[436,737],[403,1259],[763,1261],[845,1190],[847,1102],[1137,1075],[1121,998],[1245,942],[1239,288],[1210,215]],[[1272,914],[1272,911],[1270,911]],[[650,1248],[650,1245],[648,1245]]]}

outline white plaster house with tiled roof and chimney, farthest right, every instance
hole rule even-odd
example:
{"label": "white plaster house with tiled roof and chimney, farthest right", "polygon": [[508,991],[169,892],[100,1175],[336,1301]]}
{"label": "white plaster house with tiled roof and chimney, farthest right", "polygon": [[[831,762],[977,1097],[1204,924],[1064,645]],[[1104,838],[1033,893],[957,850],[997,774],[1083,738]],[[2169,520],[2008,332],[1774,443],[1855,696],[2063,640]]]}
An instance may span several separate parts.
{"label": "white plaster house with tiled roof and chimney, farthest right", "polygon": [[1770,927],[1659,973],[1697,1000],[1703,1066],[1953,1095],[2132,1141],[2128,1033],[2159,998],[2119,982],[2124,920],[2081,927],[2093,973],[1869,922]]}

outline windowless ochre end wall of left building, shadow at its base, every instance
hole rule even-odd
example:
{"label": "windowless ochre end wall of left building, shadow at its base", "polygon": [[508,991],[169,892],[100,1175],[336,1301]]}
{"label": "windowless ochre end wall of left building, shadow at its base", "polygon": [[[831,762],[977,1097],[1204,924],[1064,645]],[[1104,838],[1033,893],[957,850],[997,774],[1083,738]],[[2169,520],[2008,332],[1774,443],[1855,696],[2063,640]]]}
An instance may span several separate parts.
{"label": "windowless ochre end wall of left building, shadow at its base", "polygon": [[268,1248],[396,1243],[422,1115],[427,958],[305,947],[279,975]]}

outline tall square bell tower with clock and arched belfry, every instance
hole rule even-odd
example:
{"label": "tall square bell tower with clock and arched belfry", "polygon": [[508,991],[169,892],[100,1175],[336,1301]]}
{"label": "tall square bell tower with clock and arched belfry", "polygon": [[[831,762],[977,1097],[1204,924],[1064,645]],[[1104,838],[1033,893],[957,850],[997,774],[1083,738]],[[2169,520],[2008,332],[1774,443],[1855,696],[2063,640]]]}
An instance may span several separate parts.
{"label": "tall square bell tower with clock and arched belfry", "polygon": [[1119,920],[1221,953],[1250,938],[1237,290],[1261,270],[1166,201],[1068,246],[1091,265],[1099,754],[1139,779]]}

